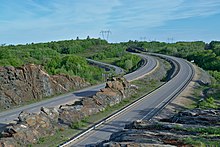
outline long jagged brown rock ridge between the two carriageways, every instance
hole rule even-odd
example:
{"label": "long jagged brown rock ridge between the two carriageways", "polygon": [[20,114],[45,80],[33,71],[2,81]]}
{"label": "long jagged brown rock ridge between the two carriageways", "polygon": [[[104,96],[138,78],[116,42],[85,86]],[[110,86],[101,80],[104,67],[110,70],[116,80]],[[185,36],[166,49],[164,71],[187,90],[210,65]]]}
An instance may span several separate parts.
{"label": "long jagged brown rock ridge between the two carriageways", "polygon": [[36,143],[40,137],[53,135],[59,128],[70,127],[72,123],[103,111],[132,93],[135,89],[124,78],[112,78],[105,88],[91,97],[61,105],[57,109],[42,107],[39,114],[21,112],[17,123],[9,125],[1,133],[0,147]]}

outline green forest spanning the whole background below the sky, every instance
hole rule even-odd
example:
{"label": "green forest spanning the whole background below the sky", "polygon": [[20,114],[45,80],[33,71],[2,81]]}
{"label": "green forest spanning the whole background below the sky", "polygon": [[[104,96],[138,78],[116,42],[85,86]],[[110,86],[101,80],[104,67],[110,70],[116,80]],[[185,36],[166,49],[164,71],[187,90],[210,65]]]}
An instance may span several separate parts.
{"label": "green forest spanning the whole background below the sky", "polygon": [[81,76],[90,81],[98,80],[101,78],[102,69],[89,65],[86,58],[106,61],[131,71],[137,68],[141,59],[126,52],[128,47],[144,48],[147,52],[193,61],[220,81],[220,41],[108,43],[101,39],[87,38],[26,45],[1,45],[0,66],[17,67],[34,63],[43,65],[49,74],[65,73]]}

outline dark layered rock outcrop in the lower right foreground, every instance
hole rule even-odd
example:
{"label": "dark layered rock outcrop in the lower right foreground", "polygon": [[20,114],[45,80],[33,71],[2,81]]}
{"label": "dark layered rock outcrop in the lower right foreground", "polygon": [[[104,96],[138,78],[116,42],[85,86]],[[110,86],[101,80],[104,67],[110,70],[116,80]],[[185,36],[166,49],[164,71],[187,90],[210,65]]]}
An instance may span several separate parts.
{"label": "dark layered rock outcrop in the lower right foreground", "polygon": [[[188,147],[196,145],[200,140],[213,141],[215,146],[220,143],[219,119],[220,110],[193,109],[179,112],[166,120],[151,122],[137,120],[126,125],[124,130],[113,133],[108,141],[96,146]],[[195,144],[187,139],[194,140]]]}

